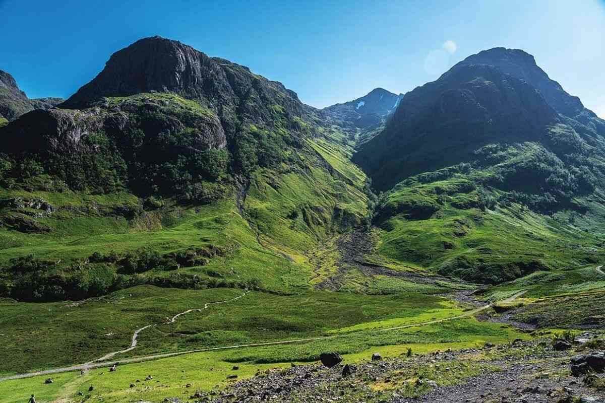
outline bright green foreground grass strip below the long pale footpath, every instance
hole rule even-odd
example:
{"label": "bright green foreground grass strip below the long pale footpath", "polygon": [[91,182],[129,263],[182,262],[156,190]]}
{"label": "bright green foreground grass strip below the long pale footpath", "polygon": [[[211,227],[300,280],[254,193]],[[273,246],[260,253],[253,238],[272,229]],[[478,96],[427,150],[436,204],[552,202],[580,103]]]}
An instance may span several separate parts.
{"label": "bright green foreground grass strip below the long pale footpath", "polygon": [[[54,383],[44,385],[44,378],[20,379],[0,382],[0,394],[3,401],[13,403],[35,393],[39,401],[76,398],[82,391],[91,398],[102,398],[105,402],[124,401],[161,401],[168,396],[186,398],[195,390],[211,390],[224,387],[227,375],[237,373],[238,379],[252,376],[258,370],[272,367],[286,367],[294,361],[316,359],[319,352],[338,350],[344,353],[345,363],[368,359],[373,352],[383,356],[401,355],[411,347],[416,353],[425,353],[448,348],[460,349],[477,347],[490,341],[506,343],[512,338],[527,338],[508,327],[494,323],[479,323],[474,320],[457,320],[434,326],[403,329],[397,332],[365,332],[340,340],[313,342],[299,345],[250,347],[242,350],[194,353],[191,355],[149,361],[146,363],[125,364],[117,372],[96,369],[85,375],[62,373],[53,376]],[[270,361],[261,363],[261,361]],[[232,370],[238,363],[239,370]],[[456,367],[459,373],[464,372]],[[101,374],[102,373],[102,374]],[[152,381],[144,381],[145,376],[153,375]],[[460,375],[462,376],[462,375]],[[142,382],[136,382],[139,379]],[[444,381],[445,382],[445,381]],[[133,383],[136,386],[130,388]],[[445,382],[446,383],[446,382]],[[186,388],[186,384],[192,387]],[[93,392],[87,392],[90,385]]]}

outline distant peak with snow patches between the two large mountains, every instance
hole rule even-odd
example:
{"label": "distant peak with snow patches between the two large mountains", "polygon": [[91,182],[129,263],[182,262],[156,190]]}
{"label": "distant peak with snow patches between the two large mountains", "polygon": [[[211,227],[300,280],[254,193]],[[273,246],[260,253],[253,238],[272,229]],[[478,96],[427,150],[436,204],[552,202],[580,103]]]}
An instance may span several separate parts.
{"label": "distant peak with snow patches between the two large mountains", "polygon": [[328,106],[322,112],[341,126],[365,128],[381,124],[397,108],[400,97],[386,89],[374,88],[361,98]]}

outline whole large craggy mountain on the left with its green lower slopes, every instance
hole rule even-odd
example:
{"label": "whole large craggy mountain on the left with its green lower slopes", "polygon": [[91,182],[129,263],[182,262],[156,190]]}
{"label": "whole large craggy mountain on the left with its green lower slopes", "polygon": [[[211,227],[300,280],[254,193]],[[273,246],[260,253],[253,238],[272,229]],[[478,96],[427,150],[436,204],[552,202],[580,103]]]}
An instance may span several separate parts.
{"label": "whole large craggy mountain on the left with its green lower slopes", "polygon": [[[0,137],[0,294],[13,298],[82,298],[131,281],[307,288],[304,251],[367,217],[365,175],[321,112],[162,37],[117,51],[65,102]],[[82,236],[90,242],[69,246]]]}

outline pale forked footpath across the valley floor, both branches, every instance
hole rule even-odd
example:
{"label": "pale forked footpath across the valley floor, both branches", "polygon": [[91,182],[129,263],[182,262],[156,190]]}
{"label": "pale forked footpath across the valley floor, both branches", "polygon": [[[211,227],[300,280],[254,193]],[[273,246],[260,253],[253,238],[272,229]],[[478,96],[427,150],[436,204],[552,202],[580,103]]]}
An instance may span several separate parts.
{"label": "pale forked footpath across the valley floor, both branches", "polygon": [[[438,319],[438,320],[430,320],[430,321],[425,321],[425,322],[420,322],[420,323],[405,324],[403,326],[385,327],[384,329],[375,329],[375,330],[387,332],[389,330],[398,330],[398,329],[407,329],[409,327],[427,326],[429,324],[441,323],[441,322],[445,322],[445,321],[457,320],[457,319],[469,317],[469,316],[477,314],[481,311],[485,311],[485,309],[491,308],[492,306],[494,306],[497,303],[511,303],[512,301],[514,301],[521,295],[525,294],[525,292],[527,292],[527,290],[519,291],[516,294],[511,295],[508,298],[505,298],[504,300],[494,301],[492,303],[489,303],[488,305],[480,306],[479,308],[473,309],[472,311],[465,312],[464,314],[458,315],[455,317],[443,318],[443,319]],[[238,297],[232,298],[231,300],[206,303],[206,305],[204,305],[203,309],[207,309],[209,305],[221,304],[221,303],[226,303],[226,302],[237,300],[238,298],[241,298],[244,295],[246,295],[245,292],[244,292],[244,294],[242,294]],[[127,351],[134,349],[134,347],[136,347],[136,345],[137,345],[137,336],[139,335],[139,333],[142,330],[147,329],[148,327],[151,327],[151,326],[157,326],[158,324],[173,323],[180,315],[185,315],[188,312],[192,312],[192,311],[196,311],[196,310],[201,311],[201,309],[189,309],[188,311],[181,312],[180,314],[175,315],[174,317],[172,317],[172,319],[170,321],[167,321],[164,323],[149,324],[145,327],[142,327],[141,329],[138,329],[132,336],[132,343],[128,349],[109,353],[99,359],[91,361],[90,363],[74,365],[71,367],[62,367],[62,368],[55,368],[55,369],[49,369],[49,370],[44,370],[44,371],[38,371],[38,372],[20,373],[18,375],[5,376],[4,378],[0,378],[0,382],[8,381],[9,379],[22,379],[22,378],[31,378],[32,376],[38,376],[38,375],[49,375],[52,373],[90,370],[90,369],[95,369],[95,368],[100,368],[100,367],[110,367],[113,364],[108,363],[105,360],[113,357],[114,355],[116,355],[118,353],[127,352]],[[363,332],[363,331],[364,330],[359,330],[359,332]],[[354,332],[354,333],[357,333],[357,332]],[[328,339],[337,338],[337,337],[347,337],[347,335],[350,335],[350,334],[336,334],[336,335],[330,335],[330,336],[299,338],[299,339],[293,339],[293,340],[267,341],[265,343],[237,344],[235,346],[211,347],[208,349],[186,350],[186,351],[174,352],[174,353],[145,355],[145,356],[134,357],[134,358],[120,359],[120,364],[142,363],[143,361],[151,361],[152,359],[168,358],[168,357],[172,357],[172,356],[192,354],[192,353],[201,353],[201,352],[207,352],[207,351],[232,350],[232,349],[241,349],[241,348],[246,348],[246,347],[275,346],[278,344],[306,343],[308,341],[328,340]]]}

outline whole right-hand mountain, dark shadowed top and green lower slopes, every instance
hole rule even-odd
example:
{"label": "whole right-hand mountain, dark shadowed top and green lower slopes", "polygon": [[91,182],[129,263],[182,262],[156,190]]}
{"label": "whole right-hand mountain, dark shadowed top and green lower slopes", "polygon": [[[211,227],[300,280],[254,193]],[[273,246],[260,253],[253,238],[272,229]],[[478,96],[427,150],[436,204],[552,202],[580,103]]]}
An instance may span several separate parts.
{"label": "whole right-hand mountain, dark shadowed top and green lower slopes", "polygon": [[469,56],[405,94],[353,155],[385,191],[379,252],[484,283],[598,261],[602,130],[529,54]]}

